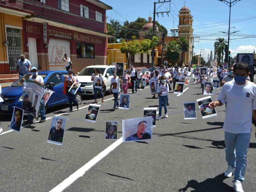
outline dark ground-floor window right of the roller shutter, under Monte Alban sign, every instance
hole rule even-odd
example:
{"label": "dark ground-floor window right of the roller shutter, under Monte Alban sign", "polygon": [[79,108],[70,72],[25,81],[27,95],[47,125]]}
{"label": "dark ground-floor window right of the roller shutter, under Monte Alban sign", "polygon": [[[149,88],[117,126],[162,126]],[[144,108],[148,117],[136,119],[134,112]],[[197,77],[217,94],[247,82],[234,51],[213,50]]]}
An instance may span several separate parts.
{"label": "dark ground-floor window right of the roller shutter, under Monte Alban sign", "polygon": [[94,59],[94,44],[77,41],[77,57]]}

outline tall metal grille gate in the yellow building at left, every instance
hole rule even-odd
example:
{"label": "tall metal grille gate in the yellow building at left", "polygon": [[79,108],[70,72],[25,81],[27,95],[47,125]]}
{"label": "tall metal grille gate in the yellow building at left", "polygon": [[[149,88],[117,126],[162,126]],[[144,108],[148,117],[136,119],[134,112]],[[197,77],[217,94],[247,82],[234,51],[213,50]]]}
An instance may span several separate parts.
{"label": "tall metal grille gate in the yellow building at left", "polygon": [[22,54],[21,30],[14,28],[6,28],[8,41],[8,59],[10,70],[16,70],[17,61]]}

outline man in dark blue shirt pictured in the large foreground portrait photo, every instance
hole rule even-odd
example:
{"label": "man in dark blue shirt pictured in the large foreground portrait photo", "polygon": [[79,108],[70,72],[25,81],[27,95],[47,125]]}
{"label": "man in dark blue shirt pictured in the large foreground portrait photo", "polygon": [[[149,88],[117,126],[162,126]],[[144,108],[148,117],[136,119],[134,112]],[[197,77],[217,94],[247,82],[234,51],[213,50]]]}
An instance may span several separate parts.
{"label": "man in dark blue shirt pictured in the large foreground portrait photo", "polygon": [[146,132],[147,129],[147,121],[141,121],[137,125],[137,132],[133,135],[128,136],[125,141],[138,141],[138,140],[146,140],[151,138],[151,134]]}

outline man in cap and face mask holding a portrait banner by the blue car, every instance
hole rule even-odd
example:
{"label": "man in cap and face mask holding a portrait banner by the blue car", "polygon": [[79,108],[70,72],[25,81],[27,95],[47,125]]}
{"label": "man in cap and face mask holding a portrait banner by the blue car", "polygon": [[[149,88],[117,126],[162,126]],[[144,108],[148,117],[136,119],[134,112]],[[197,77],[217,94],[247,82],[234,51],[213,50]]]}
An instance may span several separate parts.
{"label": "man in cap and face mask holding a portrait banner by the blue car", "polygon": [[[36,67],[31,67],[31,76],[29,76],[29,80],[39,83],[41,85],[44,85],[44,79],[42,76],[38,75]],[[39,110],[40,110],[40,114],[41,114],[41,120],[39,122],[43,123],[46,119],[44,106],[40,105]],[[33,115],[28,115],[28,120],[24,121],[24,124],[33,124],[33,119],[34,119]]]}

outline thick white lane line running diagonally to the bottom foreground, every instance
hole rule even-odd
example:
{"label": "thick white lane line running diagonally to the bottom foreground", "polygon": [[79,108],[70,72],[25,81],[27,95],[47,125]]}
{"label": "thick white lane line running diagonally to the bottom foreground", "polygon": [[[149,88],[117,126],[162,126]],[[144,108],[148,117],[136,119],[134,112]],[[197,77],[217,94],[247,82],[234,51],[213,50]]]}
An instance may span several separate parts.
{"label": "thick white lane line running diagonally to the bottom foreground", "polygon": [[79,177],[83,177],[86,171],[91,169],[101,159],[106,157],[111,151],[113,151],[116,147],[118,147],[122,142],[123,142],[123,137],[121,137],[119,140],[115,141],[109,147],[101,151],[97,156],[95,156],[93,159],[88,161],[84,166],[79,168],[76,172],[74,172],[72,175],[66,178],[63,182],[61,182],[56,187],[54,187],[54,189],[52,189],[50,192],[61,192],[64,189],[66,189],[68,186],[74,183]]}

